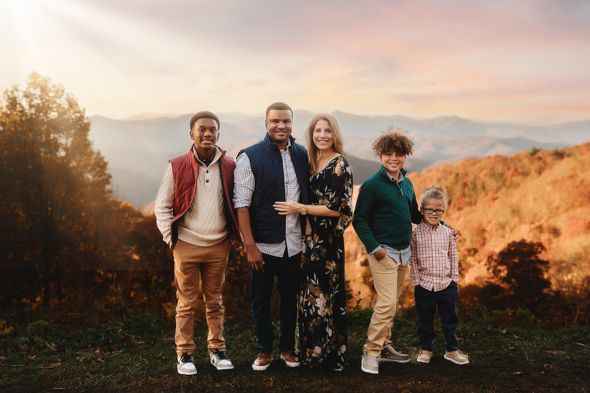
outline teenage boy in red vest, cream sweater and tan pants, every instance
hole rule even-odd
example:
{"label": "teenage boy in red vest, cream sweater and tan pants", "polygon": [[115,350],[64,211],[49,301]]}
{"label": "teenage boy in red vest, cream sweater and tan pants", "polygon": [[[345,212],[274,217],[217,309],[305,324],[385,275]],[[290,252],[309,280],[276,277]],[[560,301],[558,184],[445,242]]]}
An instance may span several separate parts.
{"label": "teenage boy in red vest, cream sweater and tan pants", "polygon": [[234,366],[225,356],[221,290],[231,240],[240,231],[231,201],[234,159],[215,146],[219,119],[204,111],[191,119],[188,153],[170,160],[154,207],[158,228],[174,254],[176,281],[176,353],[179,374],[196,374],[193,362],[194,313],[199,281],[209,325],[209,356],[218,370]]}

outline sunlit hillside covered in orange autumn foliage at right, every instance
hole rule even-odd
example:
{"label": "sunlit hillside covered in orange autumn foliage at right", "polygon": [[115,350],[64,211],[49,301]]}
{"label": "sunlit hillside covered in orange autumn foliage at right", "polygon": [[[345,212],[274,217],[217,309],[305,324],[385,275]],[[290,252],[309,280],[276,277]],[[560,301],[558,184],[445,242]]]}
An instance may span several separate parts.
{"label": "sunlit hillside covered in orange autumn foliage at right", "polygon": [[[409,160],[412,158],[410,157]],[[461,284],[489,277],[487,257],[512,241],[540,241],[550,261],[553,289],[574,294],[587,291],[590,275],[590,143],[519,153],[511,157],[473,158],[410,173],[419,201],[422,188],[442,184],[449,204],[444,220],[459,232],[457,248]],[[358,191],[358,189],[355,189]],[[346,276],[363,305],[374,304],[372,279],[362,244],[352,226],[345,234]],[[409,295],[412,292],[406,283]],[[404,306],[402,295],[402,304]],[[411,306],[411,299],[406,299]]]}

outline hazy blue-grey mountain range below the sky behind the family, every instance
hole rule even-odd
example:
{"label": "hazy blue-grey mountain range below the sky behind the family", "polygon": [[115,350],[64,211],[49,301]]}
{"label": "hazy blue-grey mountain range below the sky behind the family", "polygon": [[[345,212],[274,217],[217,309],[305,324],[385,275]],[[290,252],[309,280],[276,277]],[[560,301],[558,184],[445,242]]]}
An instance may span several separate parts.
{"label": "hazy blue-grey mountain range below the sky behind the family", "polygon": [[[293,136],[306,145],[304,130],[315,113],[294,111]],[[409,171],[436,168],[464,158],[507,155],[529,150],[563,148],[590,140],[590,121],[540,127],[509,123],[480,123],[457,116],[415,120],[405,116],[358,116],[333,112],[342,129],[355,184],[362,184],[379,166],[371,142],[389,125],[402,127],[415,140]],[[114,196],[136,208],[152,202],[169,159],[188,152],[189,120],[182,116],[144,113],[124,120],[91,116],[90,139],[109,162]],[[218,145],[228,155],[263,139],[264,114],[219,113]]]}

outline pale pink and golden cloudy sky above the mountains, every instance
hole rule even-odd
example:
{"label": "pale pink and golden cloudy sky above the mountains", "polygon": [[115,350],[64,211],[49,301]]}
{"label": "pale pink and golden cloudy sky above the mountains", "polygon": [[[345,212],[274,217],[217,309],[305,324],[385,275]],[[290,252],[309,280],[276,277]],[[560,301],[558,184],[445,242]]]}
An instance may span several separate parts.
{"label": "pale pink and golden cloudy sky above the mountains", "polygon": [[87,114],[590,119],[587,0],[0,0],[0,89],[32,71]]}

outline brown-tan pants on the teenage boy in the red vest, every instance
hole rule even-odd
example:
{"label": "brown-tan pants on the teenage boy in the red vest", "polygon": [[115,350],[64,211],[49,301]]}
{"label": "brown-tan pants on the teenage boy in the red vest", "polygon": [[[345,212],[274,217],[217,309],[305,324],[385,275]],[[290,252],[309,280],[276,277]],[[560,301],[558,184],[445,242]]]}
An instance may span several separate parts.
{"label": "brown-tan pants on the teenage boy in the red vest", "polygon": [[209,325],[209,351],[225,351],[221,290],[225,281],[225,267],[230,254],[231,240],[225,238],[215,245],[202,247],[178,240],[173,249],[174,279],[176,281],[176,353],[191,355],[195,350],[193,331],[195,329],[196,297],[201,292],[207,306]]}

